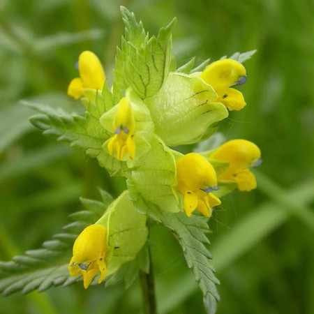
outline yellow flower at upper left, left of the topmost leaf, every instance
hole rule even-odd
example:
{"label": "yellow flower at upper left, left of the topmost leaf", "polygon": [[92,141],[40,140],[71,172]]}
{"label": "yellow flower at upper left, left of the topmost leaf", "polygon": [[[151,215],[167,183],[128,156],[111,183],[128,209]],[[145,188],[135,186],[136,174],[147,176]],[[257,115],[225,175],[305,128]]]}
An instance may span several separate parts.
{"label": "yellow flower at upper left, left of the topmost leaf", "polygon": [[80,77],[73,79],[68,86],[68,96],[75,99],[83,96],[83,89],[101,91],[105,84],[105,72],[96,54],[84,51],[78,61]]}

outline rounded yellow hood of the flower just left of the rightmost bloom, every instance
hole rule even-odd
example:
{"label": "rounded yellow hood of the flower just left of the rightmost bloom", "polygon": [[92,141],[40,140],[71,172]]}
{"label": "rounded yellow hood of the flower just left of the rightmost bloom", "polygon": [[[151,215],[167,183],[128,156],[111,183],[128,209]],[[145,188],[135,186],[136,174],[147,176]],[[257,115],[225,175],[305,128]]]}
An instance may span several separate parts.
{"label": "rounded yellow hood of the flower just left of the rightmost bloom", "polygon": [[209,161],[200,154],[190,153],[177,160],[177,189],[184,195],[188,190],[217,184],[216,172]]}

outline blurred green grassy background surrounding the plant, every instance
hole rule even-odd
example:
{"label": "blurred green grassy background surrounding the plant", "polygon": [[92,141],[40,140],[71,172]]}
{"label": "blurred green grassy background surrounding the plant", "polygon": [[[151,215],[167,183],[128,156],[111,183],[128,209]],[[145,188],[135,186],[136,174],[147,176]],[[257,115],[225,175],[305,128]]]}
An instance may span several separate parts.
{"label": "blurred green grassy background surrounding the plant", "polygon": [[[226,140],[262,150],[258,188],[223,199],[210,221],[220,279],[218,313],[314,313],[314,3],[311,0],[2,0],[0,2],[0,260],[59,232],[78,197],[114,196],[110,179],[82,151],[33,128],[27,99],[82,111],[66,96],[82,50],[103,61],[108,80],[124,27],[119,5],[149,33],[177,16],[179,65],[257,49],[246,61],[246,103],[220,124]],[[159,313],[204,313],[202,295],[170,232],[151,230]],[[70,256],[69,256],[70,258]],[[129,290],[81,284],[0,299],[0,313],[141,313]]]}

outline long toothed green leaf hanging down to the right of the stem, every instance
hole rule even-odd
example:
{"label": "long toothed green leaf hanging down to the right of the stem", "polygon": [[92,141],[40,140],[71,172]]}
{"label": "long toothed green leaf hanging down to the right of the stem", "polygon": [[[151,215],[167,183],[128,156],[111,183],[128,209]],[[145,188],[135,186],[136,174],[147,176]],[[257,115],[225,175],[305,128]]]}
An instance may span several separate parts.
{"label": "long toothed green leaf hanging down to the right of the stem", "polygon": [[209,232],[207,218],[192,215],[187,217],[185,213],[172,214],[158,207],[147,208],[148,214],[163,223],[170,229],[179,241],[184,252],[188,268],[195,276],[195,281],[202,290],[204,306],[207,313],[216,313],[219,294],[216,285],[219,284],[215,276],[214,267],[209,260],[211,253],[206,248],[209,240],[204,232]]}

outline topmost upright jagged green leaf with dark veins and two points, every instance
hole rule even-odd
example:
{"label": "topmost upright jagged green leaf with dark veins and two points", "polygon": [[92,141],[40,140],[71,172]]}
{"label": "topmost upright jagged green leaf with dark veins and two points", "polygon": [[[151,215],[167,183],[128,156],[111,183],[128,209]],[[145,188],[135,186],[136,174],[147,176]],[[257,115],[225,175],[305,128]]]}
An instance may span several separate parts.
{"label": "topmost upright jagged green leaf with dark veins and two points", "polygon": [[126,35],[121,40],[121,49],[117,49],[114,80],[121,90],[132,87],[144,99],[156,94],[167,78],[172,59],[171,30],[176,19],[161,28],[157,38],[149,38],[134,13],[121,7],[121,14]]}

